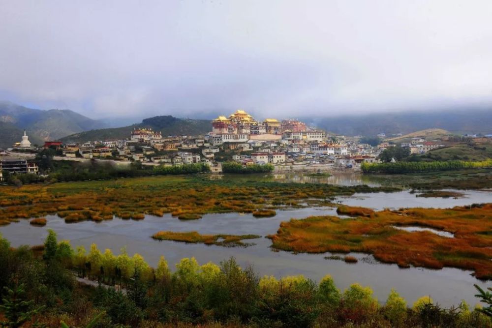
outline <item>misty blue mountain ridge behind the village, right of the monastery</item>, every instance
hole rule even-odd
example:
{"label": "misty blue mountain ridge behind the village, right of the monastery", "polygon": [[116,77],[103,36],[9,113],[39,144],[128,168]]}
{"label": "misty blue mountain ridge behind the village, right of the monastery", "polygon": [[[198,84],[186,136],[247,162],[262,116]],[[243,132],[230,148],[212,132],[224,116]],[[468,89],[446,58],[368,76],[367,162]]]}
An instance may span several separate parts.
{"label": "misty blue mountain ridge behind the village, right of the monastery", "polygon": [[454,133],[492,133],[492,106],[460,110],[406,111],[312,119],[309,125],[348,136],[375,136],[441,128]]}

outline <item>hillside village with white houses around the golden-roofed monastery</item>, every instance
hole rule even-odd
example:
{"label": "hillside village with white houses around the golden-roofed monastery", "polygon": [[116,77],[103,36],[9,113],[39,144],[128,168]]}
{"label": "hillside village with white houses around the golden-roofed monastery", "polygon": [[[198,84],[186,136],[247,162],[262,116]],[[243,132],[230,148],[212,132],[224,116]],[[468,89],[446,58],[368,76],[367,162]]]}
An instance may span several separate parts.
{"label": "hillside village with white houses around the golden-roofed monastery", "polygon": [[[212,131],[199,136],[163,136],[152,128],[135,127],[123,140],[87,140],[80,144],[46,141],[43,147],[36,148],[24,133],[21,142],[3,152],[10,157],[0,157],[0,172],[38,174],[30,158],[35,156],[36,149],[43,148],[56,149],[55,160],[96,159],[118,165],[139,162],[146,166],[204,163],[216,173],[222,171],[223,162],[236,162],[244,167],[271,164],[275,171],[358,170],[362,162],[376,162],[381,152],[397,145],[409,149],[410,154],[425,154],[447,146],[453,137],[444,130],[440,130],[444,133],[433,133],[437,130],[419,136],[397,134],[371,146],[360,136],[332,135],[297,119],[258,121],[237,110],[228,117],[212,120]],[[476,141],[492,141],[492,135],[473,137]],[[380,133],[378,138],[384,140],[386,135]],[[12,166],[9,161],[17,165]]]}

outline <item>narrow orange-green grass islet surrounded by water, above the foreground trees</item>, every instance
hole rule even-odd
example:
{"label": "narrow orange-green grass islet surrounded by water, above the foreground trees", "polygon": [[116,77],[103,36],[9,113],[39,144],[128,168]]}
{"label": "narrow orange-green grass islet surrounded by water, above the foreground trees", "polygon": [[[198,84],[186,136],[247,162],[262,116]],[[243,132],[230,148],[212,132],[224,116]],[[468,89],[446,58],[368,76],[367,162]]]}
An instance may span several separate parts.
{"label": "narrow orange-green grass islet surrounded by water, above the foreground trees", "polygon": [[200,235],[196,231],[192,232],[172,232],[172,231],[159,231],[155,233],[152,238],[158,240],[174,240],[188,243],[203,243],[207,245],[219,245],[219,246],[242,246],[247,247],[252,245],[251,243],[243,242],[244,239],[256,239],[261,236],[257,235]]}

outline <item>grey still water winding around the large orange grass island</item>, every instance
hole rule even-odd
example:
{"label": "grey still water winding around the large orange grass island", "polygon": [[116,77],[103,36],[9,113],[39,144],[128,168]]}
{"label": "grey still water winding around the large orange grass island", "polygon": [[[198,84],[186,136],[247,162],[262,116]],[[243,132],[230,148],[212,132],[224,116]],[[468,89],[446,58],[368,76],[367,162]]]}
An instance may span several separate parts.
{"label": "grey still water winding around the large orange grass island", "polygon": [[[408,191],[396,193],[356,194],[352,197],[338,197],[337,202],[347,205],[364,206],[372,209],[401,208],[401,207],[434,207],[450,208],[453,206],[469,205],[472,203],[490,202],[490,191],[464,191],[464,197],[453,198],[421,198]],[[343,261],[325,260],[330,254],[292,254],[275,252],[270,249],[270,239],[264,237],[274,234],[281,221],[290,218],[304,218],[309,215],[337,215],[335,208],[306,208],[292,210],[277,210],[277,215],[271,218],[254,218],[251,214],[239,213],[207,214],[200,220],[181,221],[170,214],[163,217],[147,215],[142,221],[122,220],[115,218],[111,221],[95,223],[92,221],[75,224],[65,224],[58,216],[48,216],[45,227],[33,227],[28,220],[0,227],[2,235],[9,239],[13,246],[21,244],[40,244],[47,236],[47,229],[57,232],[59,239],[68,239],[73,246],[83,245],[89,249],[92,243],[97,243],[104,251],[110,248],[118,254],[126,247],[130,255],[140,253],[153,266],[161,255],[170,264],[179,262],[184,257],[195,257],[200,264],[212,261],[219,263],[234,256],[237,261],[246,266],[251,264],[260,275],[303,274],[308,278],[319,281],[324,275],[330,274],[341,290],[350,284],[358,282],[370,286],[375,296],[384,301],[391,288],[395,288],[409,304],[417,298],[430,295],[441,305],[457,305],[461,299],[474,305],[474,283],[482,287],[484,284],[470,275],[470,271],[457,268],[431,270],[424,268],[398,268],[397,265],[381,264],[367,254],[351,254],[359,259],[356,264]],[[260,239],[250,239],[256,243],[247,248],[221,247],[216,245],[186,244],[175,241],[157,241],[152,239],[154,233],[165,231],[197,231],[201,234],[256,234]]]}

